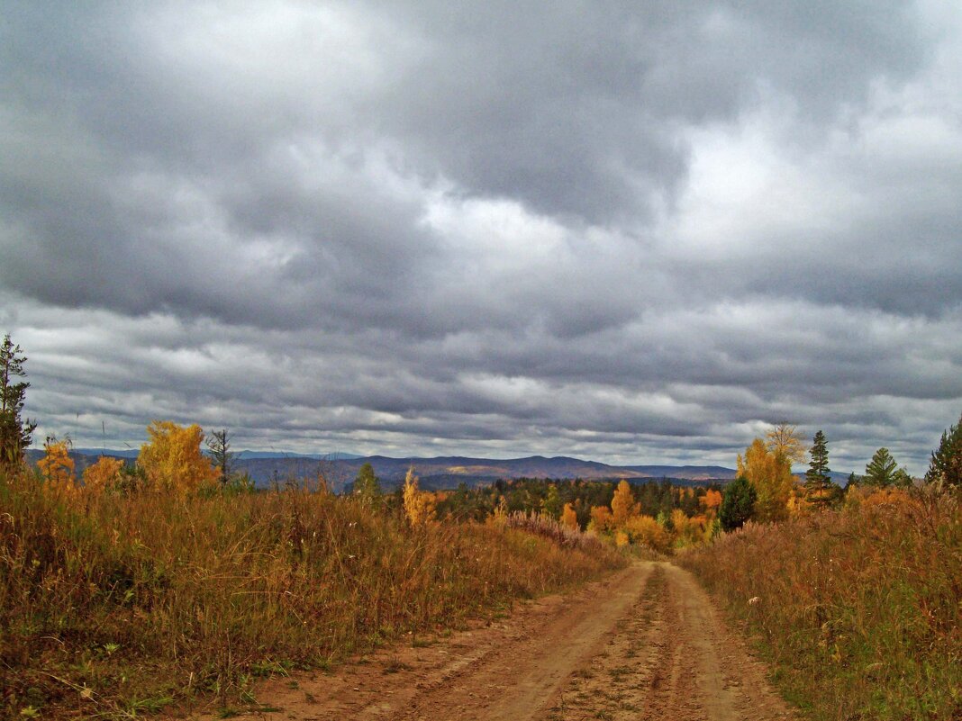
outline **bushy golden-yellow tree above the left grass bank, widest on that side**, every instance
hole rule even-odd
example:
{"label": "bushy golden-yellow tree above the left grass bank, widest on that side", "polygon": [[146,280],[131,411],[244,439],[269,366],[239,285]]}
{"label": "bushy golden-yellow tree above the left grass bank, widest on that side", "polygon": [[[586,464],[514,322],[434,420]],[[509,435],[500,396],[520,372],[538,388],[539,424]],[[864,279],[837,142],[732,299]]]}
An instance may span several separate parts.
{"label": "bushy golden-yellow tree above the left grass bank, widest on that side", "polygon": [[200,426],[153,421],[147,436],[150,440],[140,447],[137,462],[154,488],[187,494],[217,480],[217,469],[200,450],[204,442]]}

